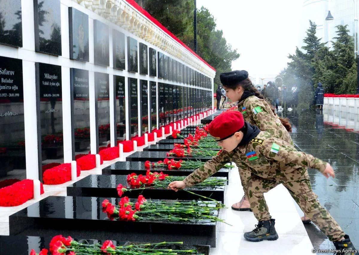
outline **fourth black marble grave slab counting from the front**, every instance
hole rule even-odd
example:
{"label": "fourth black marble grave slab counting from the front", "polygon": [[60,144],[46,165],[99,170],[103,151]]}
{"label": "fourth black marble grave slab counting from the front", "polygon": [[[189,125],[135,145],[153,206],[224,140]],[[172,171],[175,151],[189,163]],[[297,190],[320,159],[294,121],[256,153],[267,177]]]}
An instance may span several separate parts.
{"label": "fourth black marble grave slab counting from the front", "polygon": [[[169,170],[167,167],[165,167],[165,168],[156,167],[156,168],[151,168],[151,170],[157,171],[157,172],[162,171],[164,174],[168,174],[168,175],[187,176],[187,175],[191,174],[193,171],[195,171],[196,169],[180,167],[180,169]],[[107,175],[109,175],[109,174],[127,175],[127,174],[131,174],[131,173],[146,174],[145,162],[118,161],[118,162],[115,162],[112,165],[109,165],[102,169],[102,174],[107,174]],[[217,173],[213,174],[212,176],[225,177],[228,180],[228,175],[229,175],[229,168],[223,167],[222,169],[220,169]]]}

